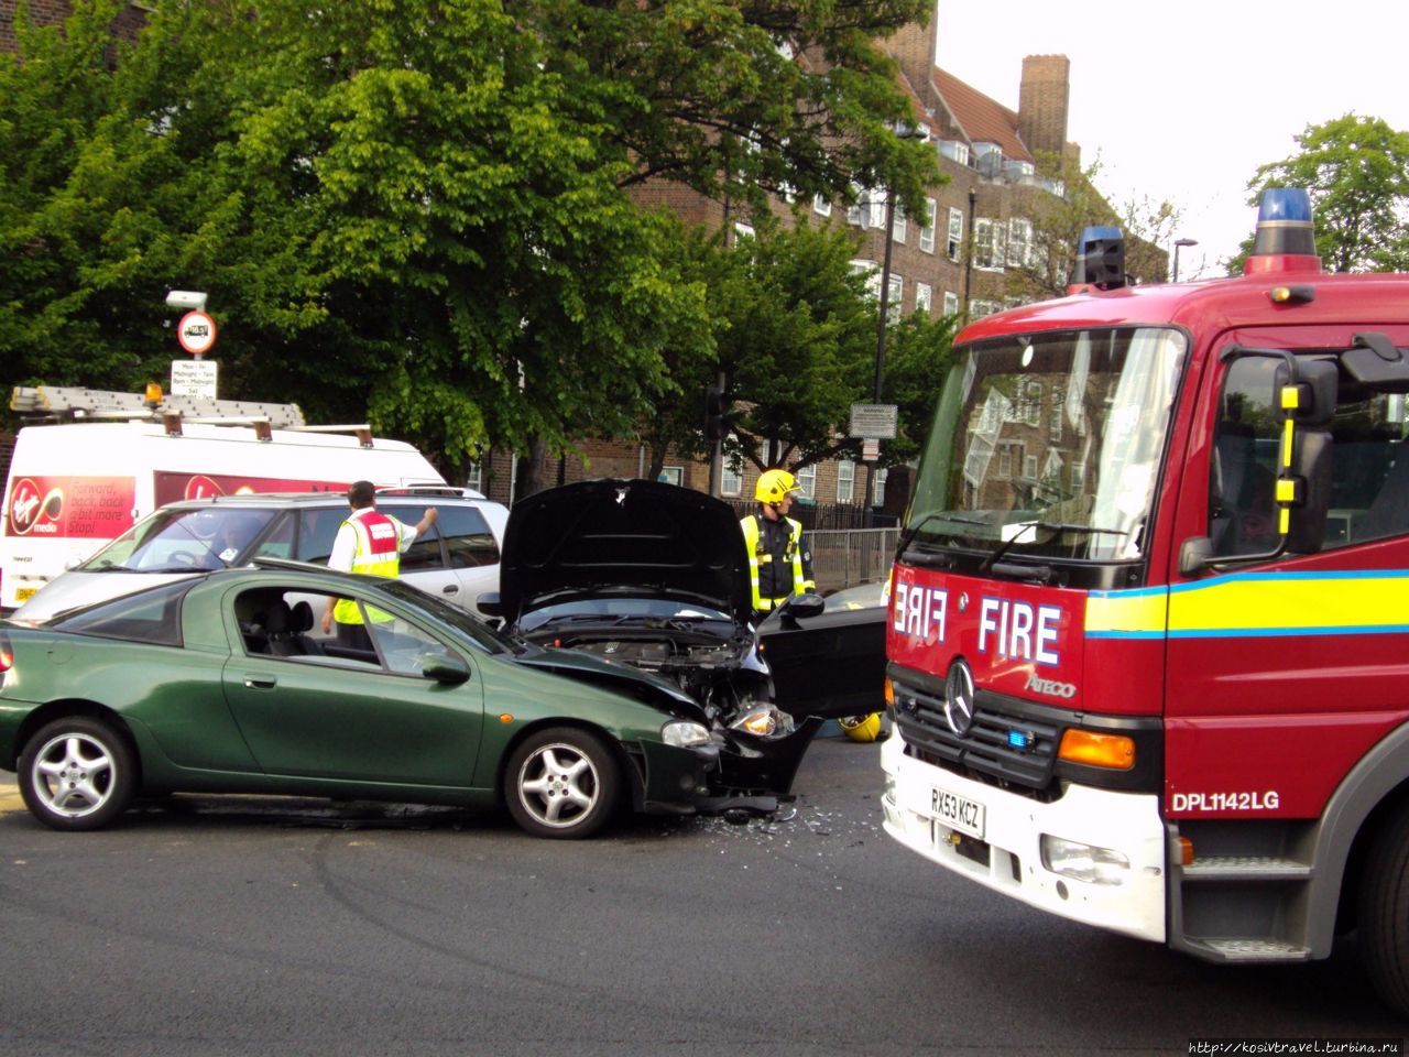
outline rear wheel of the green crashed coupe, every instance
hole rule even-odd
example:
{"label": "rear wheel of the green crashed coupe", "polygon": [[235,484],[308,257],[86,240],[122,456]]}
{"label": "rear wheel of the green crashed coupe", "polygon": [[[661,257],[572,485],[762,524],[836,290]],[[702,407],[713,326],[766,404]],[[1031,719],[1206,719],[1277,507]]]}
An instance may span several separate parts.
{"label": "rear wheel of the green crashed coupe", "polygon": [[111,724],[69,716],[25,743],[18,779],[25,808],[45,826],[96,830],[127,810],[137,792],[137,765]]}

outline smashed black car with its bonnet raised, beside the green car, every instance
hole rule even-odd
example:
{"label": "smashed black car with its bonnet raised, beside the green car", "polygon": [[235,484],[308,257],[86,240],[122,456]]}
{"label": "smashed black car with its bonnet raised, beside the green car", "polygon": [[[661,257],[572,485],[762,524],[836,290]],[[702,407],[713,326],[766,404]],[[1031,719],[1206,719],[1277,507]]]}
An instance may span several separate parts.
{"label": "smashed black car with its bonnet raised, beside the green car", "polygon": [[[499,582],[479,609],[513,634],[678,684],[723,733],[726,784],[764,806],[789,792],[826,717],[881,707],[883,644],[872,647],[883,610],[828,619],[820,596],[800,595],[755,629],[738,520],[702,492],[599,479],[523,499],[509,514]],[[869,627],[851,636],[848,624]],[[858,707],[867,695],[855,689],[817,692],[827,671],[845,688],[874,676],[872,703]]]}

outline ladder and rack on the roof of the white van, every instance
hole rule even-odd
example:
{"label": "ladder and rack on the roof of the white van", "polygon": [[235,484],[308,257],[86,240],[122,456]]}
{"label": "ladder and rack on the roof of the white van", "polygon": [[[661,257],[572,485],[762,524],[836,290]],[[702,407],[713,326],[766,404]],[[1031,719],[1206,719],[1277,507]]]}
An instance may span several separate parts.
{"label": "ladder and rack on the roof of the white van", "polygon": [[[68,386],[15,386],[10,393],[10,410],[17,414],[55,421],[85,419],[151,419],[180,416],[186,421],[255,424],[272,428],[306,428],[303,412],[296,403],[259,403],[255,400],[213,400],[203,396],[162,396],[147,403],[141,393],[107,392]],[[342,427],[351,428],[351,427]]]}

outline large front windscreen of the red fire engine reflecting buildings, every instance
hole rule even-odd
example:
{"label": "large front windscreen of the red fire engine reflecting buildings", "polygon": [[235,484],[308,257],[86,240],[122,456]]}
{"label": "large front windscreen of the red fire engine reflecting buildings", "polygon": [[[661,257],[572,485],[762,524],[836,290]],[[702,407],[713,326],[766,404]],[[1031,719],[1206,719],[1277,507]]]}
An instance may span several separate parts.
{"label": "large front windscreen of the red fire engine reflecting buildings", "polygon": [[1184,355],[1182,333],[1138,327],[957,348],[910,548],[1138,560]]}

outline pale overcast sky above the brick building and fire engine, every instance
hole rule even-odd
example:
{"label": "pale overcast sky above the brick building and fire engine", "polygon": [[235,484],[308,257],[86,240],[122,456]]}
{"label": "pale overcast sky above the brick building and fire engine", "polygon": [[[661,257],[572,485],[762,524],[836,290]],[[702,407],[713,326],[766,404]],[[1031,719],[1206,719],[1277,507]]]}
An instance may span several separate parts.
{"label": "pale overcast sky above the brick building and fire engine", "polygon": [[1112,204],[1179,210],[1175,235],[1199,242],[1182,279],[1226,273],[1257,223],[1248,180],[1306,125],[1355,113],[1409,130],[1399,0],[937,3],[936,63],[1014,111],[1024,55],[1071,59],[1067,138],[1099,158]]}

